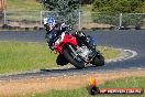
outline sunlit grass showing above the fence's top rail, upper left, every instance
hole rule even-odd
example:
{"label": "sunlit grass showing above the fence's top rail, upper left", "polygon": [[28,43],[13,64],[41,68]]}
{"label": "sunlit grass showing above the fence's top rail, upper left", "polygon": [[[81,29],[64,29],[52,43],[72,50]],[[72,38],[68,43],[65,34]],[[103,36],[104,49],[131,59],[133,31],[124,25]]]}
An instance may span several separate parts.
{"label": "sunlit grass showing above the fence's top rail, upper left", "polygon": [[36,2],[36,0],[7,0],[7,10],[42,10],[43,4]]}

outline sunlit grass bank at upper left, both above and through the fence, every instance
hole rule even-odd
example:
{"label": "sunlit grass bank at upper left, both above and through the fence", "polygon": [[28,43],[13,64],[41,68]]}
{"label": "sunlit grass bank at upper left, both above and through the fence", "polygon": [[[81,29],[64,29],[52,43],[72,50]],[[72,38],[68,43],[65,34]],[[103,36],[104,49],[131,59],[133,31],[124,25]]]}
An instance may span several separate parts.
{"label": "sunlit grass bank at upper left, both above and through the fence", "polygon": [[43,3],[36,0],[7,0],[7,19],[40,21]]}

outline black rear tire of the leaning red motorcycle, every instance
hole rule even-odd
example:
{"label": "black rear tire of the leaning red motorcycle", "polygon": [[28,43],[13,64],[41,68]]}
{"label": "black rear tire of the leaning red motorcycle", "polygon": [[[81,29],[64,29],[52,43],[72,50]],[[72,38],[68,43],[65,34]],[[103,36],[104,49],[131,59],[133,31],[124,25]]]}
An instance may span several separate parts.
{"label": "black rear tire of the leaning red motorcycle", "polygon": [[102,55],[96,56],[92,61],[92,65],[103,66],[104,65],[104,57]]}

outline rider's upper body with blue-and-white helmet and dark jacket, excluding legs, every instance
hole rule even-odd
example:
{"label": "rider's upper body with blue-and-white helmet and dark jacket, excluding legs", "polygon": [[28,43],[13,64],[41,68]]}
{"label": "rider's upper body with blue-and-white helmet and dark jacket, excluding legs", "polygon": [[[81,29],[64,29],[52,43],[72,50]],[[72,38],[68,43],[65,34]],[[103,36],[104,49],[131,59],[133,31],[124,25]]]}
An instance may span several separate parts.
{"label": "rider's upper body with blue-and-white helmet and dark jacket, excluding legs", "polygon": [[48,46],[53,48],[53,43],[66,30],[65,23],[56,23],[55,19],[49,17],[44,19],[44,28],[47,31],[45,37],[47,39]]}

